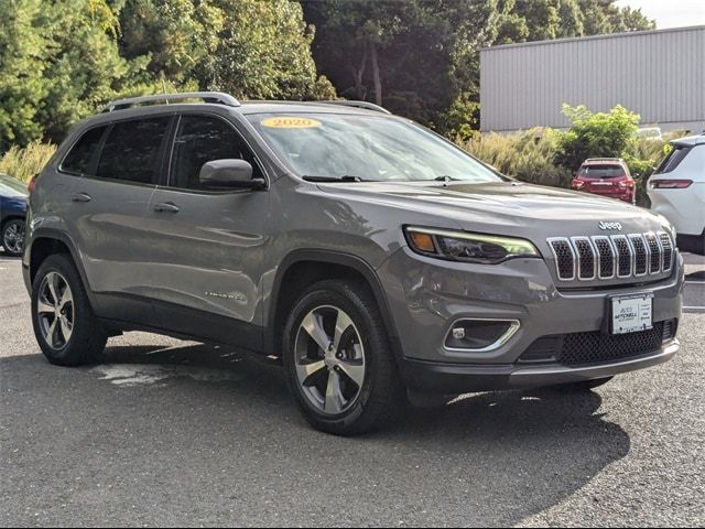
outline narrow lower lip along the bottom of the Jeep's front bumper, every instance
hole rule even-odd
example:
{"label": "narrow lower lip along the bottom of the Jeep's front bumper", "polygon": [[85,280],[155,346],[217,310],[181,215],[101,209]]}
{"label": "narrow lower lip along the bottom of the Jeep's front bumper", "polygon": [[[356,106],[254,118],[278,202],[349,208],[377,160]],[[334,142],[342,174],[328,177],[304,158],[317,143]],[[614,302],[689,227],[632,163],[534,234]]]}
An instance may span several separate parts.
{"label": "narrow lower lip along the bottom of the Jeep's front bumper", "polygon": [[534,388],[614,377],[663,364],[680,350],[677,339],[662,349],[640,357],[593,366],[562,365],[458,365],[404,359],[401,374],[406,386],[424,393],[466,393],[502,389]]}

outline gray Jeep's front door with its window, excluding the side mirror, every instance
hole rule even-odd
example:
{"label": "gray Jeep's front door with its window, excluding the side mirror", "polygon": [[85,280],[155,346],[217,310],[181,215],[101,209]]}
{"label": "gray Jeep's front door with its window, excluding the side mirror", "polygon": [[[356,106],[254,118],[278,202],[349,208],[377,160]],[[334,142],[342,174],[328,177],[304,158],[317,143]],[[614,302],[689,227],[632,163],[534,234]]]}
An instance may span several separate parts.
{"label": "gray Jeep's front door with its window, excluding the side mirror", "polygon": [[164,328],[257,349],[269,193],[203,188],[200,168],[223,159],[247,160],[253,177],[264,177],[231,122],[217,115],[182,115],[169,185],[154,193],[149,207],[155,270],[150,295]]}

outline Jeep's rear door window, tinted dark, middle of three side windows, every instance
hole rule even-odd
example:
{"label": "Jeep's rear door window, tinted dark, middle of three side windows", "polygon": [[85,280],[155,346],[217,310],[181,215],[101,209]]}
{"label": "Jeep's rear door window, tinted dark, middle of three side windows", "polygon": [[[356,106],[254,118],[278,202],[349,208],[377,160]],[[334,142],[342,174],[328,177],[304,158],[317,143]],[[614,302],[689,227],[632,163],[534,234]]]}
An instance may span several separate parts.
{"label": "Jeep's rear door window, tinted dark, middle of three side windows", "polygon": [[171,117],[120,121],[100,153],[97,176],[140,184],[159,183],[161,148]]}

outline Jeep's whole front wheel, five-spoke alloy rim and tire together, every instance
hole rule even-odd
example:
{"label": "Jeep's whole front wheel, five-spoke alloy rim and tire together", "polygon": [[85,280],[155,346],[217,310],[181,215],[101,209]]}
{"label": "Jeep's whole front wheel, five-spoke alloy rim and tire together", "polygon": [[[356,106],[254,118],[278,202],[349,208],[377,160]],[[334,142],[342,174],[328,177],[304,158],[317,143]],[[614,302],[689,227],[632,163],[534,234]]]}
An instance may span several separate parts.
{"label": "Jeep's whole front wheel, five-spoke alloy rim and tire together", "polygon": [[324,432],[368,432],[403,401],[387,330],[362,283],[322,281],[305,291],[284,327],[283,360],[303,415]]}

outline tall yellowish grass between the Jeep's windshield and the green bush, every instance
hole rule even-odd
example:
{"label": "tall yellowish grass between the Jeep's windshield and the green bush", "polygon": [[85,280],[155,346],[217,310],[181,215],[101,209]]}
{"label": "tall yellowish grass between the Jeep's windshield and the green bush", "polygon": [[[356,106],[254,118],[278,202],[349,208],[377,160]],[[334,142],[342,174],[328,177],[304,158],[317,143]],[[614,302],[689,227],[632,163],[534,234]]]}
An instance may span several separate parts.
{"label": "tall yellowish grass between the Jeep's windshield and the green bush", "polygon": [[460,142],[474,156],[503,174],[540,185],[566,187],[571,171],[555,163],[558,133],[552,129],[531,129],[514,134],[475,136]]}

